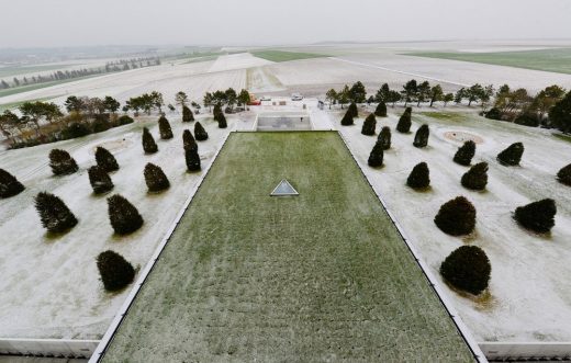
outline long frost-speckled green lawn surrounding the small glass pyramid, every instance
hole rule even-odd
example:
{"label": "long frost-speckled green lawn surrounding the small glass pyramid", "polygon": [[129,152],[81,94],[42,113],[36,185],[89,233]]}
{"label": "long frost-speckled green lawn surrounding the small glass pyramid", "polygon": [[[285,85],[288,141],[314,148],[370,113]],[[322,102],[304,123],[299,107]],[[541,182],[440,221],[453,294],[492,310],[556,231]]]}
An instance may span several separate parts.
{"label": "long frost-speckled green lawn surrounding the small glass pyramid", "polygon": [[302,132],[231,135],[103,361],[472,355],[338,134]]}

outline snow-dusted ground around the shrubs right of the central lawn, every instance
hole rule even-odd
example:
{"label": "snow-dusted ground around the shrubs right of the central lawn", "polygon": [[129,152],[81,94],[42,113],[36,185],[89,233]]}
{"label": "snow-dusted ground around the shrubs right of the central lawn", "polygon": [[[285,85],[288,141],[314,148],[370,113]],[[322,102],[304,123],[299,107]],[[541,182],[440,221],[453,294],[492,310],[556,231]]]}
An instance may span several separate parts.
{"label": "snow-dusted ground around the shrubs right of the central lawn", "polygon": [[[384,152],[384,167],[367,166],[377,137],[360,134],[362,112],[355,126],[342,127],[340,114],[333,112],[337,125],[369,181],[384,196],[390,211],[419,250],[432,272],[441,279],[441,261],[462,245],[481,247],[490,258],[492,277],[486,293],[475,298],[448,288],[455,308],[478,341],[571,341],[571,190],[556,180],[556,173],[571,159],[571,144],[550,131],[490,121],[474,114],[454,111],[413,111],[410,134],[394,127],[403,109],[389,109],[389,117],[378,117],[392,131],[392,146]],[[413,147],[414,133],[428,124],[428,147]],[[460,184],[467,167],[452,162],[461,145],[446,133],[463,132],[479,136],[472,165],[486,161],[489,183],[484,192],[473,192]],[[525,152],[520,167],[503,167],[496,155],[515,141]],[[547,147],[548,146],[548,147]],[[430,190],[416,192],[406,186],[412,168],[425,161],[430,171]],[[477,208],[477,227],[466,238],[440,231],[433,219],[441,204],[463,195]],[[513,219],[520,205],[551,197],[557,203],[556,226],[547,236],[528,232]]]}

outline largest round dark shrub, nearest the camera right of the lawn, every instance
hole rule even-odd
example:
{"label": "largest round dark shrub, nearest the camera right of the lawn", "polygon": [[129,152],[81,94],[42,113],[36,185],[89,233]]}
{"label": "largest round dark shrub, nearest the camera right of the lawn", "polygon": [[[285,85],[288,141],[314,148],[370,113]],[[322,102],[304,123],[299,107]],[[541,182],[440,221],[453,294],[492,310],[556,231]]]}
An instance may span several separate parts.
{"label": "largest round dark shrub, nearest the camera right of the lawn", "polygon": [[479,295],[488,288],[492,265],[477,246],[461,246],[440,264],[440,274],[454,287]]}

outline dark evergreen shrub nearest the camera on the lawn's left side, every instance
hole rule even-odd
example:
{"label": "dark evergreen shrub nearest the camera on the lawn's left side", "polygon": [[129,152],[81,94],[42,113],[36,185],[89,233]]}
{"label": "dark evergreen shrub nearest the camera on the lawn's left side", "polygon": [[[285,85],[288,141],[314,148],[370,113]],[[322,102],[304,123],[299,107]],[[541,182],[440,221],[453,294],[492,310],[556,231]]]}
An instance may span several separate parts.
{"label": "dark evergreen shrub nearest the camera on the lawn's left side", "polygon": [[135,269],[121,254],[104,251],[97,257],[97,268],[103,286],[109,292],[120,291],[135,279]]}

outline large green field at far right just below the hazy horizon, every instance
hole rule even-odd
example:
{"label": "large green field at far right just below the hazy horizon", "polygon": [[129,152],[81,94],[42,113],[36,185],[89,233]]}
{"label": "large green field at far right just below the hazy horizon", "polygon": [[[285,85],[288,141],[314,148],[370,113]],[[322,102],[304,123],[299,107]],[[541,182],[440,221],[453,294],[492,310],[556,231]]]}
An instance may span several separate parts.
{"label": "large green field at far right just below the hazy horizon", "polygon": [[415,52],[406,55],[571,73],[571,48],[496,53]]}

